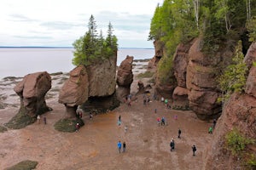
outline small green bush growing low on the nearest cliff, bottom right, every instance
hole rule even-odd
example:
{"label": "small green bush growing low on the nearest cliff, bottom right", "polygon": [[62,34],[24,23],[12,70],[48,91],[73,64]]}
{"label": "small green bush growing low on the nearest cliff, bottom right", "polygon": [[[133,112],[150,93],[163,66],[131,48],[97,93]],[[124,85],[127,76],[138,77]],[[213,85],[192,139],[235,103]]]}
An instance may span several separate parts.
{"label": "small green bush growing low on the nearest cliff, bottom right", "polygon": [[241,135],[241,133],[235,128],[227,133],[225,136],[227,149],[232,152],[233,156],[241,155],[241,152],[245,150],[247,144],[252,144],[251,139],[247,139]]}

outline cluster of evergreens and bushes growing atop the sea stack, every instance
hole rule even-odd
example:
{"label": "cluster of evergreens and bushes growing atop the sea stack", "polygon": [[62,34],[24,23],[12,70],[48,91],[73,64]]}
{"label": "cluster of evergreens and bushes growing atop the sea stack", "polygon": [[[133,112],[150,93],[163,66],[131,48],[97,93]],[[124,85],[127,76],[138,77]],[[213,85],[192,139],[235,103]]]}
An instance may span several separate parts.
{"label": "cluster of evergreens and bushes growing atop the sea stack", "polygon": [[108,37],[104,39],[102,31],[98,36],[96,21],[90,16],[88,31],[73,42],[73,65],[90,65],[96,61],[115,56],[118,49],[117,37],[113,35],[113,26],[108,24]]}

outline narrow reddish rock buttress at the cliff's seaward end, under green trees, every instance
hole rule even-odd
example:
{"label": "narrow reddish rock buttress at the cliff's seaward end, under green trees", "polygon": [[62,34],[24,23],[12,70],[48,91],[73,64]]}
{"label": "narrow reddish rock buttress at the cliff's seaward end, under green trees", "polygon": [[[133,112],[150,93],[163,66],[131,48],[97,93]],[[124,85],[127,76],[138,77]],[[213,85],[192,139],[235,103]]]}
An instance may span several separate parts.
{"label": "narrow reddish rock buttress at the cliff's seaward end, under green trees", "polygon": [[154,69],[163,56],[164,43],[154,41],[154,57],[148,61],[148,69]]}

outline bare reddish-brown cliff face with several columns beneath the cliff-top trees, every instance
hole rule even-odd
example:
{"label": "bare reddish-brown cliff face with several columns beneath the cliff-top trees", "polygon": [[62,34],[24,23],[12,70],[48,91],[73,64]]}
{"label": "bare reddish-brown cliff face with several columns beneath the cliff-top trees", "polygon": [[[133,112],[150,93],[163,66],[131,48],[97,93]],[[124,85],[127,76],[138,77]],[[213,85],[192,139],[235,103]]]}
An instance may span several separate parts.
{"label": "bare reddish-brown cliff face with several columns beneath the cliff-top trees", "polygon": [[201,120],[209,120],[221,114],[217,76],[230,62],[233,51],[229,44],[212,57],[201,52],[201,41],[196,38],[179,44],[169,73],[176,81],[161,83],[156,77],[155,87],[158,94],[173,99],[173,107],[190,108]]}

